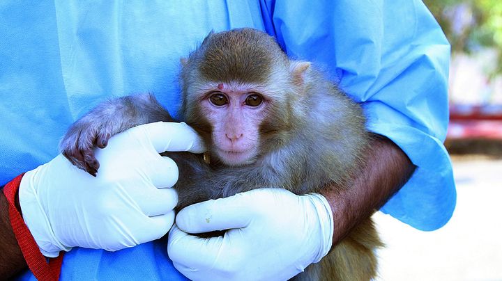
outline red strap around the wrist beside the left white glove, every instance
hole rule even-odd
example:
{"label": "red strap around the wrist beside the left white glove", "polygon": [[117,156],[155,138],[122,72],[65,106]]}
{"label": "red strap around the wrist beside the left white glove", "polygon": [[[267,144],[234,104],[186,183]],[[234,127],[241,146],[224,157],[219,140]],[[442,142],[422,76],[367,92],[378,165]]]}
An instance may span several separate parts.
{"label": "red strap around the wrist beside the left white glove", "polygon": [[61,272],[64,252],[60,252],[59,256],[54,259],[50,259],[49,264],[47,264],[45,257],[40,252],[35,239],[31,235],[31,232],[29,232],[28,227],[26,227],[21,214],[17,211],[14,204],[15,195],[17,189],[19,189],[23,175],[17,176],[12,182],[3,187],[3,193],[9,202],[10,225],[13,227],[17,243],[33,275],[40,281],[57,281]]}

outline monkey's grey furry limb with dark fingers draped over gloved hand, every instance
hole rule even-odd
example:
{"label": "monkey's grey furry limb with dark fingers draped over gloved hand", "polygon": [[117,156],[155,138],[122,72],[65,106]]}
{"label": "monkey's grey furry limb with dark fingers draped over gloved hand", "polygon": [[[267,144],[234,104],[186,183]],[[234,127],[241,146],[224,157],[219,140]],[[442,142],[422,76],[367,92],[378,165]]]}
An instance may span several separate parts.
{"label": "monkey's grey furry limb with dark fingers draped over gloved hand", "polygon": [[59,148],[71,163],[96,176],[99,163],[93,153],[95,146],[104,148],[115,134],[157,121],[172,121],[172,118],[153,95],[112,99],[77,120],[61,140]]}

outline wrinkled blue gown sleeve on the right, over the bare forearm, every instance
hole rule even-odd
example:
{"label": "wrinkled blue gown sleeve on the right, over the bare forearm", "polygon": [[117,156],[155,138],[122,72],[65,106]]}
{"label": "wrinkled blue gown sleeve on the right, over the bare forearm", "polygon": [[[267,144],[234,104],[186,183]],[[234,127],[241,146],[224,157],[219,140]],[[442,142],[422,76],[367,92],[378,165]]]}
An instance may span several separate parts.
{"label": "wrinkled blue gown sleeve on the right, over the bare forearm", "polygon": [[448,126],[450,45],[422,1],[262,1],[268,33],[292,58],[320,65],[417,166],[381,208],[420,230],[455,209]]}

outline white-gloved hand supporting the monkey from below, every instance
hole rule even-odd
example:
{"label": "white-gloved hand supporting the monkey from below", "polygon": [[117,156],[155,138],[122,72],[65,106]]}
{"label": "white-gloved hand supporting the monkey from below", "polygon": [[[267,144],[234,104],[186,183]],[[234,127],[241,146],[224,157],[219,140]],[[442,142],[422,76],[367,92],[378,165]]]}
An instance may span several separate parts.
{"label": "white-gloved hand supporting the monkey from below", "polygon": [[[210,239],[188,234],[214,230],[228,231]],[[192,280],[287,280],[319,262],[332,241],[333,214],[322,195],[260,188],[181,210],[167,250]]]}

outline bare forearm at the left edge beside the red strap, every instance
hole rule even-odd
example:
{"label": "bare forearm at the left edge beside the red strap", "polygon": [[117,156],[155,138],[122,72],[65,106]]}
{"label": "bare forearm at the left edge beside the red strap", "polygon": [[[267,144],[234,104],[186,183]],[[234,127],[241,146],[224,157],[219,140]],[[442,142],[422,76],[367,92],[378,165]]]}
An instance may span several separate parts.
{"label": "bare forearm at the left edge beside the red strap", "polygon": [[8,279],[26,268],[26,262],[10,226],[8,202],[3,188],[0,192],[0,241],[0,279]]}

